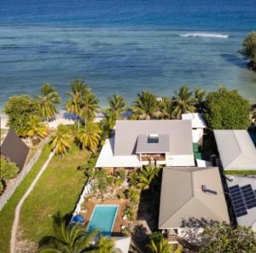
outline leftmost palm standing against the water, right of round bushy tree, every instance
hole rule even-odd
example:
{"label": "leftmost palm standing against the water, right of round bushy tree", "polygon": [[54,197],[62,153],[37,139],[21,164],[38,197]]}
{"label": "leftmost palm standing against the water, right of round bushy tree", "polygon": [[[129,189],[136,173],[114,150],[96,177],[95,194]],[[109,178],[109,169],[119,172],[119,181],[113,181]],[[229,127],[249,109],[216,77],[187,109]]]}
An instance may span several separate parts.
{"label": "leftmost palm standing against the water, right of round bushy tree", "polygon": [[41,94],[42,95],[37,95],[41,113],[44,120],[49,121],[54,118],[57,113],[55,105],[60,104],[61,96],[49,83],[43,84]]}

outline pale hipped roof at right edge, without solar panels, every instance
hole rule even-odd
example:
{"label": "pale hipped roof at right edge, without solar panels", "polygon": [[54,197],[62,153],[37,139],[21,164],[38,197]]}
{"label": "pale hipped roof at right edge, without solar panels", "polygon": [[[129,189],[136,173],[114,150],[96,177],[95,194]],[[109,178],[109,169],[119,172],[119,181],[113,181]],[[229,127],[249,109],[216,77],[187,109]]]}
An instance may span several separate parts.
{"label": "pale hipped roof at right edge, without solar panels", "polygon": [[247,130],[214,130],[224,170],[256,170],[256,148]]}

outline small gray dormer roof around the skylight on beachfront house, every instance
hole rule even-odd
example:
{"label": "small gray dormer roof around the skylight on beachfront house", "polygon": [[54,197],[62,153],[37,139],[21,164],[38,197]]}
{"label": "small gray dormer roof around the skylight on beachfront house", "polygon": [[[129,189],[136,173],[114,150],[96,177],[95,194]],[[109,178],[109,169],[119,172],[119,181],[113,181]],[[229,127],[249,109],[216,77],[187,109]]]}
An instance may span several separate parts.
{"label": "small gray dormer roof around the skylight on beachfront house", "polygon": [[158,135],[158,139],[159,141],[157,143],[148,143],[148,135],[138,135],[136,152],[169,152],[169,135]]}

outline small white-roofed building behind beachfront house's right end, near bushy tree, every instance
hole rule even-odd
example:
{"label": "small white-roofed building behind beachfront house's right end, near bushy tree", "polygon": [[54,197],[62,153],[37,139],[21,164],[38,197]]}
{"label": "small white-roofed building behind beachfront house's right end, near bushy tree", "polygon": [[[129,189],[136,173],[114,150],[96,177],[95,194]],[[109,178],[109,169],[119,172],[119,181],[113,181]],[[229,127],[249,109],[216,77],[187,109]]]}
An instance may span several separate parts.
{"label": "small white-roofed building behind beachfront house's right end, near bushy tree", "polygon": [[183,113],[182,119],[191,120],[193,143],[202,145],[204,129],[207,128],[207,124],[201,113]]}

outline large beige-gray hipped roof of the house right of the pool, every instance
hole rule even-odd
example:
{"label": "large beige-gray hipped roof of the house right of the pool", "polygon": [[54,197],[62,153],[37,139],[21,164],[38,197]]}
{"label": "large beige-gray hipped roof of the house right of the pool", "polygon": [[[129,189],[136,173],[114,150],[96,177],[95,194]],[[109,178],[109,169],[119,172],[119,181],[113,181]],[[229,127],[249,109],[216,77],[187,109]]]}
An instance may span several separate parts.
{"label": "large beige-gray hipped roof of the house right of the pool", "polygon": [[[203,192],[202,185],[217,194]],[[189,227],[184,224],[191,218],[230,222],[218,168],[163,170],[159,228]]]}

